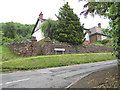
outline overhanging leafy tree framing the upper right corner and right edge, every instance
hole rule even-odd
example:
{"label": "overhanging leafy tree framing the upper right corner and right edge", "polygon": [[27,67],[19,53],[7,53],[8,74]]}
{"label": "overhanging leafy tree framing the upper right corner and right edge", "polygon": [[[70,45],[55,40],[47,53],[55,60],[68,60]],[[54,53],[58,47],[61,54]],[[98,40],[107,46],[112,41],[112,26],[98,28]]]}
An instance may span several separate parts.
{"label": "overhanging leafy tree framing the upper right corner and right edge", "polygon": [[84,14],[85,16],[87,16],[88,13],[91,13],[92,15],[99,14],[109,18],[110,28],[108,29],[107,35],[112,37],[115,55],[120,59],[120,3],[88,2],[84,7],[88,7],[87,10],[81,12],[81,14]]}

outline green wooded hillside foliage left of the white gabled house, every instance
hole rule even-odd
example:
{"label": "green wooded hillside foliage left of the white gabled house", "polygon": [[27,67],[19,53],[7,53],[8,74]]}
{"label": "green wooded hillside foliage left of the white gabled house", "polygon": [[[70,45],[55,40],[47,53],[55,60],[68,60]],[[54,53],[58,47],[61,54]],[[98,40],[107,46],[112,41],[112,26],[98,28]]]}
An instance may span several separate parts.
{"label": "green wooded hillside foliage left of the white gabled house", "polygon": [[[0,45],[7,45],[11,42],[17,42],[17,41],[26,41],[27,39],[30,39],[31,32],[34,25],[28,25],[28,24],[20,24],[15,22],[7,22],[2,23],[2,31],[0,31],[0,38],[2,42]],[[9,28],[10,27],[10,28]]]}

